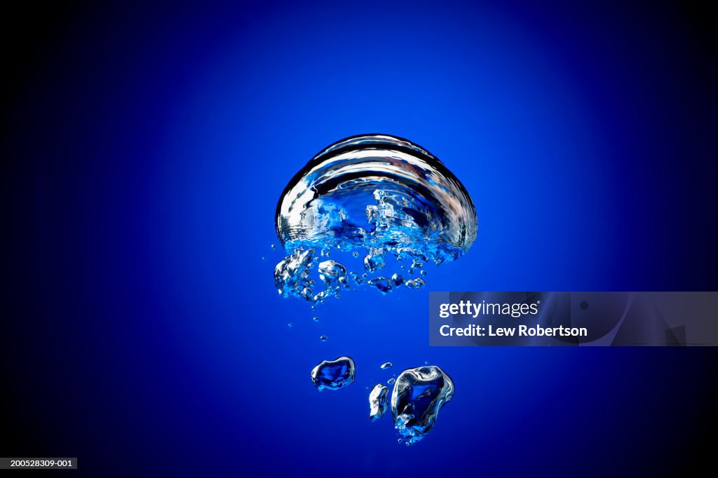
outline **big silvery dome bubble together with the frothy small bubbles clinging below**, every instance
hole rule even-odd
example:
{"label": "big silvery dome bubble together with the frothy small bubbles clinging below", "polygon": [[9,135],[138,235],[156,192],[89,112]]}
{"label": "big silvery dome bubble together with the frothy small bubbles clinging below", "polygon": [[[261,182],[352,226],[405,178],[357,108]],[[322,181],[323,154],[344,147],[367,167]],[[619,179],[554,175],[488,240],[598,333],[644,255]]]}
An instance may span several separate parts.
{"label": "big silvery dome bubble together with the frothy small bubbles clinging below", "polygon": [[[289,253],[274,270],[277,291],[317,303],[348,289],[348,277],[382,294],[404,284],[420,289],[420,278],[379,276],[386,255],[411,260],[410,275],[426,261],[454,261],[474,242],[477,219],[466,189],[439,159],[405,139],[365,135],[332,144],[294,175],[276,207],[276,232]],[[363,256],[361,265],[322,261],[314,281],[317,251],[329,257],[335,248]],[[373,276],[360,276],[360,268]]]}

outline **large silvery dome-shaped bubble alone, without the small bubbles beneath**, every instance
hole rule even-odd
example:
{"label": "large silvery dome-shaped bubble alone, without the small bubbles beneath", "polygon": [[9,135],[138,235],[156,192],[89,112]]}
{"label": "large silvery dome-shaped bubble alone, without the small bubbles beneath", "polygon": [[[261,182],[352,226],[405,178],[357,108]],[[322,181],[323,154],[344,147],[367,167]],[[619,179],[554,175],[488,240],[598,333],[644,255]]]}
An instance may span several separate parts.
{"label": "large silvery dome-shaped bubble alone, without the small bubbles beneath", "polygon": [[364,248],[371,257],[389,251],[442,263],[466,253],[476,230],[459,179],[416,144],[381,134],[343,139],[314,156],[276,207],[289,253]]}

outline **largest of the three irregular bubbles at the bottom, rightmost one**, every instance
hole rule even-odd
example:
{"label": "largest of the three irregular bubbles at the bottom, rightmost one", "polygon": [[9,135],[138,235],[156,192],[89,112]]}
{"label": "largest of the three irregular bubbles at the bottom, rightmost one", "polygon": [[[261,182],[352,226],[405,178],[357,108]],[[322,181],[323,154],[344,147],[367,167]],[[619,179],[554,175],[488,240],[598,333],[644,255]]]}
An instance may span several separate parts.
{"label": "largest of the three irregular bubbles at the bottom, rightmost one", "polygon": [[391,414],[407,445],[423,439],[434,428],[439,410],[452,396],[454,383],[439,367],[428,365],[401,372],[391,394]]}

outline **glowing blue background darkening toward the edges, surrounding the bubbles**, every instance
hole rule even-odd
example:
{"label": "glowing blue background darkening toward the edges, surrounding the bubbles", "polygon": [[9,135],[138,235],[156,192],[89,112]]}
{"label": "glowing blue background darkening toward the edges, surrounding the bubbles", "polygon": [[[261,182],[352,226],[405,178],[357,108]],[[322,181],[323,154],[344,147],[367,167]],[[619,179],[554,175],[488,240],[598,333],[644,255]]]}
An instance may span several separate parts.
{"label": "glowing blue background darkening toward the edges, surrounding the bubbles", "polygon": [[[429,290],[715,290],[706,13],[575,3],[8,15],[0,454],[78,456],[91,476],[655,476],[707,459],[714,350],[430,348],[426,289],[316,312],[274,289],[286,182],[383,132],[442,159],[477,208],[476,243],[429,268]],[[340,355],[355,384],[317,393],[309,371]],[[424,361],[456,394],[407,449],[370,423],[365,387]]]}

